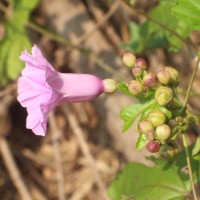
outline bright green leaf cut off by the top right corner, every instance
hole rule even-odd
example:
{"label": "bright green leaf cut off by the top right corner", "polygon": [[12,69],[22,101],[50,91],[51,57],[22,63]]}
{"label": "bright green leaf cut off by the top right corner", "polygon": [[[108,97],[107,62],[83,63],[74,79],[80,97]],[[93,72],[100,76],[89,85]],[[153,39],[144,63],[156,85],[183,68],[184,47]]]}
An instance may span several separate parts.
{"label": "bright green leaf cut off by the top right corner", "polygon": [[194,30],[200,29],[200,0],[178,0],[171,11]]}

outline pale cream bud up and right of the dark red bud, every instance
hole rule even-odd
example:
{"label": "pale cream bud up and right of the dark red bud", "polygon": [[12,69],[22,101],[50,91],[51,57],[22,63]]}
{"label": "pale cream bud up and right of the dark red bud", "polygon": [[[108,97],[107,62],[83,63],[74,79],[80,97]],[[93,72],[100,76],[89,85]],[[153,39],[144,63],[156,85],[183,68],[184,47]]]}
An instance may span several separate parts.
{"label": "pale cream bud up and right of the dark red bud", "polygon": [[161,141],[165,143],[171,136],[171,129],[167,124],[161,124],[156,128],[156,136]]}

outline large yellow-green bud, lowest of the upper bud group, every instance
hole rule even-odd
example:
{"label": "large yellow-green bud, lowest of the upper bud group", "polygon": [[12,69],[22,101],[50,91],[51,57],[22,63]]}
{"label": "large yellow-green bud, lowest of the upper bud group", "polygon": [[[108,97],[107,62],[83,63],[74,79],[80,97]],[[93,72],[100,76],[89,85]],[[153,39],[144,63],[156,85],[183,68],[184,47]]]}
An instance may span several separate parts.
{"label": "large yellow-green bud, lowest of the upper bud group", "polygon": [[165,86],[160,86],[155,92],[155,99],[161,105],[165,106],[172,100],[173,92],[172,89]]}

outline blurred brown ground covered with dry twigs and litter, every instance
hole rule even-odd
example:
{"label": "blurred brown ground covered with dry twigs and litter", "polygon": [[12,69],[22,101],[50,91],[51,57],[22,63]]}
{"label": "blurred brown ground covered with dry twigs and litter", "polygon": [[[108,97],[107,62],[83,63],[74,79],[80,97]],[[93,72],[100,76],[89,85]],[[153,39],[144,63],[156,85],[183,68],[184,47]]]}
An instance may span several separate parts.
{"label": "blurred brown ground covered with dry twigs and litter", "polygon": [[[157,3],[138,2],[145,11]],[[31,27],[27,31],[32,43],[61,72],[90,73],[102,79],[122,76],[128,81],[131,73],[121,62],[120,44],[130,38],[128,24],[132,18],[143,20],[124,4],[41,0],[32,21],[78,48],[66,47]],[[194,33],[193,40],[199,42],[198,38]],[[89,48],[92,54],[81,52],[81,47]],[[187,59],[187,55],[183,47],[179,54],[157,49],[141,56],[148,59],[153,71],[164,65],[176,65],[187,80],[193,67],[193,60]],[[199,76],[197,72],[195,91],[199,89]],[[186,88],[188,83],[181,84]],[[16,94],[15,82],[0,91],[1,200],[28,200],[30,196],[36,200],[109,199],[106,190],[126,163],[152,164],[145,158],[149,155],[146,150],[135,149],[136,127],[121,133],[119,113],[135,102],[132,98],[116,92],[91,102],[59,106],[50,116],[46,136],[39,137],[25,128],[27,113],[17,102]],[[195,112],[199,111],[198,101],[196,97],[190,102]],[[190,141],[193,138],[195,134]]]}

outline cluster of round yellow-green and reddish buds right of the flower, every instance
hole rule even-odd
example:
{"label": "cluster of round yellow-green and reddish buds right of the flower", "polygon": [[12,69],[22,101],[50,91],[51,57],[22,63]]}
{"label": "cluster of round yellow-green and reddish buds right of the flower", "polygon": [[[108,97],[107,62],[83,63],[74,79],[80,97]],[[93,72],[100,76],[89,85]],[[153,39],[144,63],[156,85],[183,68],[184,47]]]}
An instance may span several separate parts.
{"label": "cluster of round yellow-green and reddish buds right of the flower", "polygon": [[[123,63],[132,68],[134,80],[128,84],[129,92],[138,99],[152,95],[160,105],[173,112],[176,88],[179,82],[179,73],[172,67],[164,67],[157,73],[148,72],[147,63],[142,58],[136,58],[132,53],[123,55]],[[176,104],[177,108],[179,104]],[[138,122],[138,132],[146,139],[146,149],[151,153],[172,157],[177,153],[177,145],[170,140],[172,128],[169,119],[162,109],[152,109],[145,119]]]}

